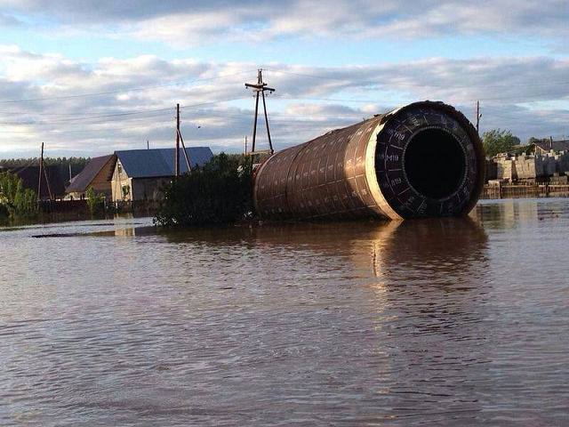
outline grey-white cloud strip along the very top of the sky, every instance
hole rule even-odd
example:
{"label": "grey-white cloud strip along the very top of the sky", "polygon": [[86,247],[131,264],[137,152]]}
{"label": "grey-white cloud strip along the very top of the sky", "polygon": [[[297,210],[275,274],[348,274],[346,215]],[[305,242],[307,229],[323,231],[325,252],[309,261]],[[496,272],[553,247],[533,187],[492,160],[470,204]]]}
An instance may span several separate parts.
{"label": "grey-white cloud strip along the very top of the sky", "polygon": [[[19,12],[40,24],[135,36],[190,46],[275,36],[416,38],[472,34],[569,36],[566,0],[483,2],[417,0],[0,1],[5,17]],[[6,18],[7,19],[7,18]]]}

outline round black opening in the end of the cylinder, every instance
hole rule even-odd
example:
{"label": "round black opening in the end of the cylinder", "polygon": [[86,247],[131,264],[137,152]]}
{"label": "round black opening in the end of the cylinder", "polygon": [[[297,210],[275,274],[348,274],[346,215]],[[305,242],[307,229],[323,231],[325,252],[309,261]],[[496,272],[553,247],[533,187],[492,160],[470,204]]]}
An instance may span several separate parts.
{"label": "round black opening in the end of the cylinder", "polygon": [[466,158],[459,141],[441,129],[425,129],[405,149],[405,173],[421,195],[445,198],[461,185]]}

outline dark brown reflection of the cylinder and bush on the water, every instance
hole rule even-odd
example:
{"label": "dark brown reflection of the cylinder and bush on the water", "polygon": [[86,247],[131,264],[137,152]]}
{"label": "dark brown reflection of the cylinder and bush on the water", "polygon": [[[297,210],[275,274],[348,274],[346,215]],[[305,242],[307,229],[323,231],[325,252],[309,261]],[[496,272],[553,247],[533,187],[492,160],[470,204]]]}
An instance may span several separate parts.
{"label": "dark brown reflection of the cylinder and bush on the water", "polygon": [[[136,233],[153,233],[140,229]],[[408,222],[291,223],[261,227],[158,231],[175,244],[274,248],[298,253],[343,257],[349,254],[355,270],[381,280],[397,281],[401,272],[409,283],[415,275],[431,285],[454,285],[468,278],[482,280],[487,270],[487,237],[470,218],[446,218]],[[134,234],[134,230],[122,232]]]}

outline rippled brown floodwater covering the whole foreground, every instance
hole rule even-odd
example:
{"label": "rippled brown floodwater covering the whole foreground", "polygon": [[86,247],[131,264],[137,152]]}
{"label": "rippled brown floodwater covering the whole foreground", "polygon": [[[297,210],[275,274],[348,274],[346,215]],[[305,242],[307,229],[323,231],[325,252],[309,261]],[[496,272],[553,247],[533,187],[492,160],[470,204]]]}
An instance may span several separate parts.
{"label": "rippled brown floodwater covering the whole foreground", "polygon": [[0,425],[569,425],[569,199],[150,224],[0,230]]}

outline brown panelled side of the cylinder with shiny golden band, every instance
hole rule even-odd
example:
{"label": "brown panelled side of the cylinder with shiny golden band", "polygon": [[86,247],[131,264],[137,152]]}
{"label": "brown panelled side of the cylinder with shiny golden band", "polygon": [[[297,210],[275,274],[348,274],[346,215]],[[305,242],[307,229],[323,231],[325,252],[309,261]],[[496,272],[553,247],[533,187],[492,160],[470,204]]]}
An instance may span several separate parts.
{"label": "brown panelled side of the cylinder with shiny golden band", "polygon": [[270,157],[256,184],[260,214],[281,219],[383,214],[364,176],[365,148],[380,120],[373,117]]}

